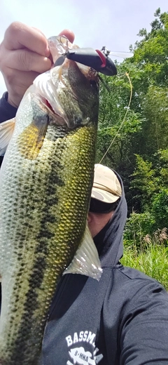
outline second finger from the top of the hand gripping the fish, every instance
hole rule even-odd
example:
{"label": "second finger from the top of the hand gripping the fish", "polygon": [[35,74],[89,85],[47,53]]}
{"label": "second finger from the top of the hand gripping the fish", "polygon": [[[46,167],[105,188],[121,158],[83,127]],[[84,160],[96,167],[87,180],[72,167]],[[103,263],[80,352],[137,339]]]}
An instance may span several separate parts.
{"label": "second finger from the top of the hand gripping the fish", "polygon": [[38,53],[28,51],[27,49],[18,49],[8,51],[8,58],[6,60],[3,59],[3,64],[11,69],[42,73],[50,69],[52,62],[49,58]]}

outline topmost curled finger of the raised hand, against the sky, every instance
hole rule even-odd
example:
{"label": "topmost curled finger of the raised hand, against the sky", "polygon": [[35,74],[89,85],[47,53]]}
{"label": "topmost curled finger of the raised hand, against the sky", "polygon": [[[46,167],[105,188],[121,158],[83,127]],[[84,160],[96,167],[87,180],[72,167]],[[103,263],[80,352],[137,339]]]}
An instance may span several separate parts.
{"label": "topmost curled finger of the raised hand, against the sky", "polygon": [[41,31],[22,24],[21,22],[13,22],[8,27],[3,42],[6,48],[11,51],[20,48],[28,48],[40,55],[50,54],[48,41]]}

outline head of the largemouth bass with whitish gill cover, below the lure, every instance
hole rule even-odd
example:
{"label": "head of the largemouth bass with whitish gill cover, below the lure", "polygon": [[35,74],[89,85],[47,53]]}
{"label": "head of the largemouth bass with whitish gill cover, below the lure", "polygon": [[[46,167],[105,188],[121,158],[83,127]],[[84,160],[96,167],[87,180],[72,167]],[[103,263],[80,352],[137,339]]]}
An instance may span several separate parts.
{"label": "head of the largemouth bass with whitish gill cover, below the lure", "polygon": [[57,124],[69,129],[97,124],[99,77],[94,69],[65,58],[62,65],[39,75],[34,86]]}

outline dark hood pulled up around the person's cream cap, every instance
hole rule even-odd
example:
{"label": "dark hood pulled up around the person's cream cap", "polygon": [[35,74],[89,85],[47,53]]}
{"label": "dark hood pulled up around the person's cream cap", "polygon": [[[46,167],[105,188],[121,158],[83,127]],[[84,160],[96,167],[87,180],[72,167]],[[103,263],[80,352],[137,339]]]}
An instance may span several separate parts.
{"label": "dark hood pulled up around the person's cream cap", "polygon": [[[113,170],[114,173],[116,171]],[[123,230],[127,219],[127,202],[123,181],[116,173],[122,187],[122,196],[109,223],[94,237],[102,267],[114,267],[123,256]]]}

